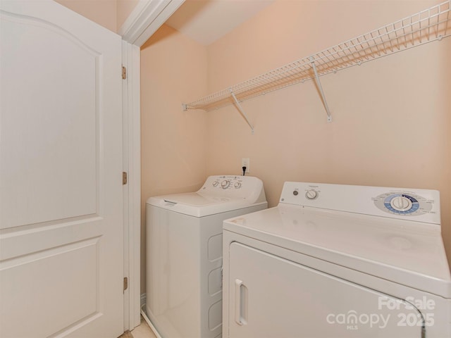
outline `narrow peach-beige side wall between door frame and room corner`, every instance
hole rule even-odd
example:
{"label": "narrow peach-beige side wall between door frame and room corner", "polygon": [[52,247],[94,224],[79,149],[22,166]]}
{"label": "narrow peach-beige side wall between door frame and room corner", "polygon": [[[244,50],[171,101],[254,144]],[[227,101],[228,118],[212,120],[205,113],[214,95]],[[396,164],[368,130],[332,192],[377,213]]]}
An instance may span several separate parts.
{"label": "narrow peach-beige side wall between door frame and room corner", "polygon": [[145,202],[192,192],[206,177],[206,113],[182,103],[206,94],[206,48],[163,25],[141,48],[141,288],[145,292]]}

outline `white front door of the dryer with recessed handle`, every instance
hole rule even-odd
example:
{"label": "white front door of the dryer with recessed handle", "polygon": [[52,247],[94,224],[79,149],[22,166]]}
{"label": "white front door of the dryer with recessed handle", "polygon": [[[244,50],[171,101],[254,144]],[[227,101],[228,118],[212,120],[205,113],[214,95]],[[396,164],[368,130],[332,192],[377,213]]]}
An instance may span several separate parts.
{"label": "white front door of the dryer with recessed handle", "polygon": [[229,258],[228,337],[421,337],[405,301],[237,242]]}

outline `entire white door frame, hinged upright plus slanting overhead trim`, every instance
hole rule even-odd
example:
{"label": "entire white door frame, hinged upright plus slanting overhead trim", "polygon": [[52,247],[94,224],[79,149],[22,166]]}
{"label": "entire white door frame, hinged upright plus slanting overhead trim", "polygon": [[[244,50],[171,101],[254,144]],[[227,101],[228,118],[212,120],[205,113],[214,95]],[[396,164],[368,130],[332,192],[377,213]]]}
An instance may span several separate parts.
{"label": "entire white door frame, hinged upright plus slanting overhead trim", "polygon": [[141,109],[140,47],[185,0],[140,0],[118,34],[123,39],[123,170],[124,186],[124,330],[140,325],[141,315]]}

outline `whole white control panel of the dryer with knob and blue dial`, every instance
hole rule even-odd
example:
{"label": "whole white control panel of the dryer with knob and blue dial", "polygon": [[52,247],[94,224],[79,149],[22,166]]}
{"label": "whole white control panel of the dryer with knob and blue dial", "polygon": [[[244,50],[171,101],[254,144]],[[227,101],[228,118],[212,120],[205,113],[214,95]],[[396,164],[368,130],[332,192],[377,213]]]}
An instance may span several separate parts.
{"label": "whole white control panel of the dryer with knob and blue dial", "polygon": [[436,190],[285,182],[280,203],[440,224]]}

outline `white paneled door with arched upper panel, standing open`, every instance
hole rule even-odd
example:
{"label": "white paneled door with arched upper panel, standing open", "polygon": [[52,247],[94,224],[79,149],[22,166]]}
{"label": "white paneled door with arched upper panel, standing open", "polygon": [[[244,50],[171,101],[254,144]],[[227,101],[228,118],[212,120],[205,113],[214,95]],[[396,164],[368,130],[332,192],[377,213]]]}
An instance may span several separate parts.
{"label": "white paneled door with arched upper panel, standing open", "polygon": [[118,337],[121,37],[53,1],[0,12],[0,337]]}

